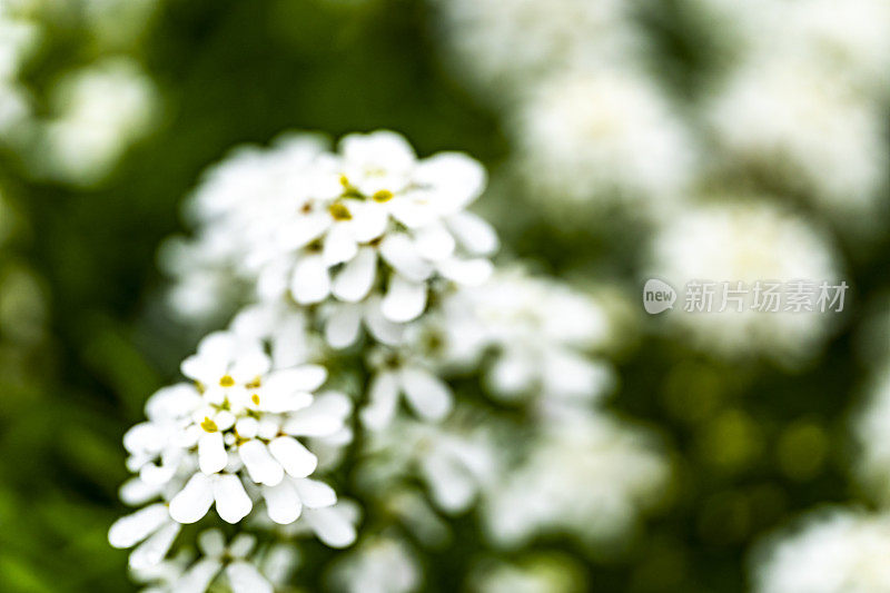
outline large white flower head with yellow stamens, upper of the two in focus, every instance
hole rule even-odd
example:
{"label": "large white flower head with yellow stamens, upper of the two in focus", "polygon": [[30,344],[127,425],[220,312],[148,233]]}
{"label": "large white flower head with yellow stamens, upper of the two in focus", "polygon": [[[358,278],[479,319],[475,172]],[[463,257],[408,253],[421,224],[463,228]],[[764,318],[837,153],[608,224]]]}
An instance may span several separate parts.
{"label": "large white flower head with yellow stamens, upper of the two in focus", "polygon": [[184,286],[229,274],[263,300],[374,300],[385,319],[405,323],[426,308],[433,280],[487,276],[497,237],[464,211],[484,186],[468,157],[417,159],[393,132],[347,136],[338,154],[315,137],[288,138],[212,169],[191,201],[198,238],[169,250],[166,267]]}

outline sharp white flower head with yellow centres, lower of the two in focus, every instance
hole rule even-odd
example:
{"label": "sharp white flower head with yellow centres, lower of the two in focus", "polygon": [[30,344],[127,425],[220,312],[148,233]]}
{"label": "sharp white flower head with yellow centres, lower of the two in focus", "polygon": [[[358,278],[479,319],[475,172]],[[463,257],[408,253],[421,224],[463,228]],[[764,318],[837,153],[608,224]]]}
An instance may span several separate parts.
{"label": "sharp white flower head with yellow centres, lower of the two in focus", "polygon": [[340,393],[316,394],[324,367],[273,368],[260,343],[220,332],[184,360],[182,374],[194,383],[152,395],[148,421],[123,437],[127,467],[137,475],[121,497],[150,504],[116,522],[109,541],[138,544],[134,569],[160,562],[180,525],[200,521],[211,506],[235,524],[263,502],[269,520],[290,524],[304,507],[337,502],[329,485],[309,477],[318,459],[303,443],[336,437],[352,409]]}

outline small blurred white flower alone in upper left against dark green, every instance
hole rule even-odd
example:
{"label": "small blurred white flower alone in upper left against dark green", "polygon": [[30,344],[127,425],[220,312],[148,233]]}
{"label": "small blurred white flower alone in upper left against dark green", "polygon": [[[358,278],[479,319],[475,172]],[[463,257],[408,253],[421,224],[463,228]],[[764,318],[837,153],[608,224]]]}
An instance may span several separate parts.
{"label": "small blurred white flower alone in upper left against dark green", "polygon": [[55,117],[43,123],[34,166],[51,177],[93,185],[145,136],[157,109],[157,90],[139,66],[108,58],[68,72],[55,87]]}

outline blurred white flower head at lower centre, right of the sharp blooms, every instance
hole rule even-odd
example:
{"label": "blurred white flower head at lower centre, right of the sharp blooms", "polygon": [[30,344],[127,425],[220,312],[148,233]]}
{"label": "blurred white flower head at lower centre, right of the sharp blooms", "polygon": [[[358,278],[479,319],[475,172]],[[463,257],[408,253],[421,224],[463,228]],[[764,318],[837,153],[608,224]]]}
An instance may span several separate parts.
{"label": "blurred white flower head at lower centre, right of the sharp blooms", "polygon": [[504,470],[485,493],[483,515],[501,545],[554,533],[589,544],[613,542],[659,498],[666,477],[665,461],[645,434],[572,411]]}

